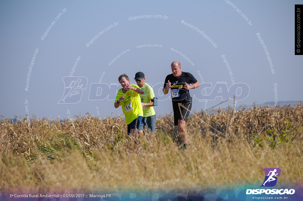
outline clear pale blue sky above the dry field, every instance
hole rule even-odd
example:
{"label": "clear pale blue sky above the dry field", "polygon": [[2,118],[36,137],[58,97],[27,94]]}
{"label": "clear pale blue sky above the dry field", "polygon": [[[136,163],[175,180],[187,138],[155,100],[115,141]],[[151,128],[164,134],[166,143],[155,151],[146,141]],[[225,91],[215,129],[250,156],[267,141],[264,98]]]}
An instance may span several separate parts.
{"label": "clear pale blue sky above the dry field", "polygon": [[[181,70],[193,74],[201,84],[199,71],[204,82],[212,83],[212,89],[217,82],[226,82],[229,88],[233,84],[231,78],[235,83],[247,84],[248,97],[238,101],[238,105],[274,102],[274,83],[278,85],[278,102],[302,100],[302,56],[294,54],[294,11],[295,4],[301,2],[231,2],[240,13],[225,0],[2,1],[0,114],[5,118],[24,117],[25,105],[28,105],[30,117],[51,116],[51,119],[59,115],[61,119],[67,118],[67,110],[72,116],[87,112],[97,116],[96,107],[101,117],[122,114],[121,108],[114,108],[114,101],[88,100],[91,83],[98,83],[103,73],[102,83],[108,85],[118,83],[118,76],[124,73],[133,81],[135,73],[142,71],[145,81],[156,85],[171,74],[172,61],[179,61]],[[129,20],[141,15],[152,18]],[[162,15],[162,18],[154,15]],[[203,31],[217,47],[195,29],[182,24],[182,20]],[[42,40],[52,21],[54,25]],[[105,31],[110,25],[115,26]],[[86,44],[102,31],[87,47]],[[270,53],[274,74],[257,33]],[[159,46],[137,48],[145,44]],[[28,91],[25,91],[28,67],[36,48],[38,53],[33,61]],[[171,48],[185,54],[194,65]],[[127,52],[121,55],[124,51]],[[121,56],[109,65],[119,54]],[[86,77],[87,87],[78,103],[58,104],[65,90],[62,78],[69,76],[79,57],[73,77]],[[212,89],[207,89],[208,95]],[[162,96],[161,90],[158,93],[159,87],[154,90],[159,98],[156,114],[170,113],[169,95]],[[199,87],[190,93],[193,96],[201,91]],[[208,101],[207,108],[221,101],[220,97]],[[204,110],[204,107],[205,102],[194,99],[192,110]]]}

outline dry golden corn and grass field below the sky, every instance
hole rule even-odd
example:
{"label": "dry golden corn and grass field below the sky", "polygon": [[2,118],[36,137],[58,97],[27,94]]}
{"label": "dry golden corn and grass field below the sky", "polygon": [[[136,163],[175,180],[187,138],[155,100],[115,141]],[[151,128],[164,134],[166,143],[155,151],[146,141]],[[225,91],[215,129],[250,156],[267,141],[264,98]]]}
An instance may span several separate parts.
{"label": "dry golden corn and grass field below the sky", "polygon": [[[279,185],[302,185],[302,103],[279,106],[275,121],[274,115],[271,106],[240,106],[234,116],[232,108],[195,112],[187,122],[187,150],[179,148],[172,114],[157,118],[158,146],[148,135],[128,140],[121,116],[100,120],[87,113],[71,123],[58,117],[32,118],[29,124],[25,118],[12,123],[2,117],[0,190],[260,186],[263,168],[281,169]],[[269,137],[264,160],[251,175]],[[215,151],[218,155],[196,171]],[[175,179],[158,186],[139,184]]]}

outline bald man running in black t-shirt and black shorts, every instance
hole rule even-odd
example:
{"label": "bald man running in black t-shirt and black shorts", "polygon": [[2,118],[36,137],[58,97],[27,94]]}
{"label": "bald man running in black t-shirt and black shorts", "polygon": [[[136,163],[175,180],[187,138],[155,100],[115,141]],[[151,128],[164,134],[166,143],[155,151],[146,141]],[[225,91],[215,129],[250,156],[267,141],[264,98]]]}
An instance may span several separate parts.
{"label": "bald man running in black t-shirt and black shorts", "polygon": [[[171,89],[175,126],[178,125],[180,135],[184,142],[184,148],[186,149],[186,144],[190,144],[190,142],[188,142],[188,134],[185,127],[185,122],[189,116],[192,104],[192,97],[190,97],[189,89],[195,89],[199,87],[200,84],[192,74],[181,71],[181,64],[178,61],[171,63],[171,72],[172,74],[169,74],[165,78],[162,91],[164,94],[168,94],[168,89]],[[185,109],[180,106],[182,114],[180,114],[178,103],[181,103],[186,107]]]}

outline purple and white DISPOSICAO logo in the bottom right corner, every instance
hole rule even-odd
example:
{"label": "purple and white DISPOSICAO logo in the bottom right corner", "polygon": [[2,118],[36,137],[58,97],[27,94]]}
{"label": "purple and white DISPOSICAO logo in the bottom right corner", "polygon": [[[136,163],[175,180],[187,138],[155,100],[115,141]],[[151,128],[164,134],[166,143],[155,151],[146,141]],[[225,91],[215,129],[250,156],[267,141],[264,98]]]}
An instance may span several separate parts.
{"label": "purple and white DISPOSICAO logo in the bottom right corner", "polygon": [[[261,187],[272,187],[277,184],[278,177],[281,174],[280,168],[264,168],[265,178]],[[246,194],[294,194],[294,189],[246,189]]]}

